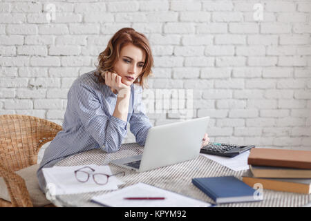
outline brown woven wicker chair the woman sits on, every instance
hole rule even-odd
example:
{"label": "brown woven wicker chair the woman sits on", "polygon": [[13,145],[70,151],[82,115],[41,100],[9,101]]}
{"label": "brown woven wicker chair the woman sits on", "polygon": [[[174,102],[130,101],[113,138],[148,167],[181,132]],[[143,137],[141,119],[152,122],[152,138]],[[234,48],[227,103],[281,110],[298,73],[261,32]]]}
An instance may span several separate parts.
{"label": "brown woven wicker chair the woman sits on", "polygon": [[0,206],[33,206],[25,180],[15,171],[37,164],[39,148],[61,130],[62,126],[38,117],[0,115],[0,177],[11,198],[11,202],[0,198]]}

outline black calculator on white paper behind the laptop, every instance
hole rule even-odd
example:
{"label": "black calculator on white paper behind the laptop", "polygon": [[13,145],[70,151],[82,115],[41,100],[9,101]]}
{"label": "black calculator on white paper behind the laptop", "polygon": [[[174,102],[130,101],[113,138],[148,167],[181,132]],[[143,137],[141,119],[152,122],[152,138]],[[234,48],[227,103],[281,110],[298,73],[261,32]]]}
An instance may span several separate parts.
{"label": "black calculator on white paper behind the laptop", "polygon": [[211,155],[219,155],[223,157],[235,157],[240,153],[248,151],[251,148],[254,148],[254,145],[249,146],[240,146],[236,144],[223,144],[223,143],[213,143],[209,142],[207,146],[203,146],[200,150],[200,153],[207,153]]}

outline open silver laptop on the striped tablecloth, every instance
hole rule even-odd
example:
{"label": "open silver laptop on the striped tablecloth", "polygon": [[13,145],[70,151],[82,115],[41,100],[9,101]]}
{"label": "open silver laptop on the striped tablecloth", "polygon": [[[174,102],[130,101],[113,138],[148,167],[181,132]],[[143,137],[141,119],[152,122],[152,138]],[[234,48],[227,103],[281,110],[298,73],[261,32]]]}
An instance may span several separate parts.
{"label": "open silver laptop on the striped tablecloth", "polygon": [[111,164],[144,172],[193,160],[200,155],[202,138],[207,131],[209,117],[153,126],[149,129],[142,155],[134,155]]}

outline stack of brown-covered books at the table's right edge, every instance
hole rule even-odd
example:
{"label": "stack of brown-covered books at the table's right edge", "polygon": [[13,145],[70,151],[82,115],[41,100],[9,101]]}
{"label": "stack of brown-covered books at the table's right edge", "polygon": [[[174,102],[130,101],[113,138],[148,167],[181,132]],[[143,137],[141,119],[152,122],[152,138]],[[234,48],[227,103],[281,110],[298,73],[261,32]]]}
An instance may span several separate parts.
{"label": "stack of brown-covered books at the table's right edge", "polygon": [[242,175],[249,186],[293,193],[311,193],[311,151],[252,148],[249,170]]}

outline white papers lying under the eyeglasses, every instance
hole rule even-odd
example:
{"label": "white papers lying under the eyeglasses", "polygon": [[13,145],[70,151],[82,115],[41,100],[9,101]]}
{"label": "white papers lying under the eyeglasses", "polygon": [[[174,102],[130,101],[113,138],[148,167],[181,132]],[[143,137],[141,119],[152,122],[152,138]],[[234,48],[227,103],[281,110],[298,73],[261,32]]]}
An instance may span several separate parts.
{"label": "white papers lying under the eyeglasses", "polygon": [[[90,171],[87,182],[79,182],[75,177],[75,171],[84,166],[90,166],[95,171]],[[98,185],[94,182],[92,173],[105,173],[111,175],[109,166],[97,166],[95,164],[80,166],[53,166],[42,169],[46,179],[46,186],[51,195],[86,193],[93,191],[115,190],[117,185],[124,184],[117,176],[109,177],[107,184]]]}

